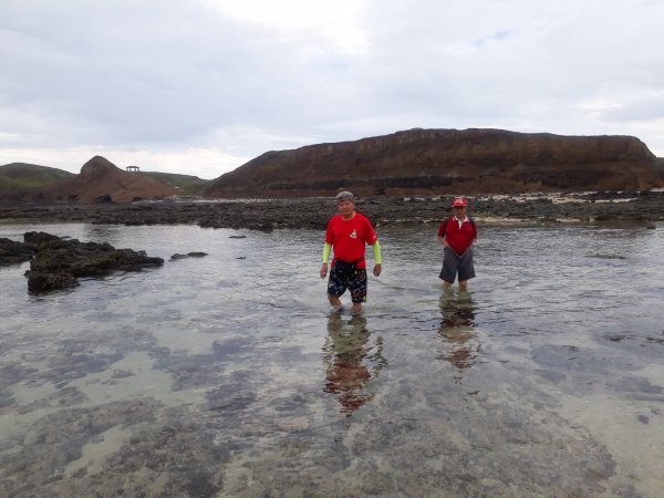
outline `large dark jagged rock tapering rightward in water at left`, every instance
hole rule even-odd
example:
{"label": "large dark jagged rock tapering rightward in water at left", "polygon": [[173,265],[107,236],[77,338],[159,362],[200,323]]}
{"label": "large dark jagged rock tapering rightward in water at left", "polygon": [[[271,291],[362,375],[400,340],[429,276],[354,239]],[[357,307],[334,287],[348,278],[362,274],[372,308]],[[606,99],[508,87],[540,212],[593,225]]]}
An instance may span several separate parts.
{"label": "large dark jagged rock tapering rightward in water at left", "polygon": [[164,264],[162,258],[148,257],[144,251],[115,249],[108,243],[65,240],[44,232],[27,232],[24,240],[27,246],[35,248],[30,270],[25,272],[30,292],[75,287],[82,277],[105,277],[114,271],[139,271]]}

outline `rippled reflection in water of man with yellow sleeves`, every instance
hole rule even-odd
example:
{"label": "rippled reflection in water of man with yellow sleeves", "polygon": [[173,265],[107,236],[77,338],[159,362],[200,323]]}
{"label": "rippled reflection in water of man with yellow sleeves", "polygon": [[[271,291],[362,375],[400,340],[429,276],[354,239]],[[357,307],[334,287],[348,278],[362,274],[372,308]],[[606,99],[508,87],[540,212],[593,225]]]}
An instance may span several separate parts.
{"label": "rippled reflection in water of man with yellow sleeves", "polygon": [[371,402],[375,393],[367,383],[387,363],[383,357],[383,339],[370,344],[371,332],[361,314],[344,319],[332,312],[328,319],[328,339],[323,346],[325,393],[336,396],[341,412],[351,415]]}

